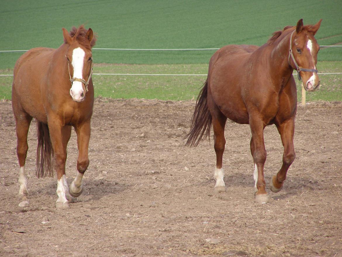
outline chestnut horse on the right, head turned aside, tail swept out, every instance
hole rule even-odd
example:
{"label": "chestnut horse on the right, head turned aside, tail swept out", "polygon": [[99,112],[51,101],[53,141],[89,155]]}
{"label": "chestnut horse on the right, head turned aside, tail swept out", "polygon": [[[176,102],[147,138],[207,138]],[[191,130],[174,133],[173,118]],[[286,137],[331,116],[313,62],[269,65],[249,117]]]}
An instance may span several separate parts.
{"label": "chestnut horse on the right, head turned aside, tail swept out", "polygon": [[[227,118],[249,124],[254,160],[255,201],[267,203],[264,164],[266,150],[264,128],[275,124],[284,146],[282,167],[269,184],[279,192],[286,173],[295,159],[293,149],[294,118],[297,111],[297,88],[292,72],[298,71],[307,91],[319,85],[314,37],[321,20],[315,25],[287,26],[261,47],[229,45],[216,51],[210,59],[208,76],[196,101],[191,130],[186,145],[196,146],[214,130],[216,168],[214,191],[226,190],[223,181],[222,155],[225,147],[224,127]],[[303,67],[303,68],[302,68]]]}

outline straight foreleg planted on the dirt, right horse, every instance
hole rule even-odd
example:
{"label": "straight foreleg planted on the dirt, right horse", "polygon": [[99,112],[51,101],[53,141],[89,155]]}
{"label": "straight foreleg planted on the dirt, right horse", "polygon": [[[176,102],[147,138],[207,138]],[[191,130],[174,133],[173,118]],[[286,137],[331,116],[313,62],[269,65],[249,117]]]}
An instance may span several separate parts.
{"label": "straight foreleg planted on the dirt, right horse", "polygon": [[[266,161],[266,149],[264,143],[264,128],[265,125],[262,119],[250,114],[249,120],[252,139],[251,139],[251,154],[254,160],[254,180],[256,180],[255,202],[259,204],[267,203],[268,196],[266,192],[266,182],[264,178],[264,166]],[[254,187],[255,188],[255,187]]]}

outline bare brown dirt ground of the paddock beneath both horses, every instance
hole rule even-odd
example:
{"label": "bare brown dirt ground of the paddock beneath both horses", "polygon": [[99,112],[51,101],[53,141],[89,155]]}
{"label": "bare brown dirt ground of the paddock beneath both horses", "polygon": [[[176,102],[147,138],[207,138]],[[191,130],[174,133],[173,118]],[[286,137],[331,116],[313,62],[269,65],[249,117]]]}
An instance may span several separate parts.
{"label": "bare brown dirt ground of the paddock beneath both horses", "polygon": [[[195,102],[96,99],[83,194],[56,210],[56,178],[26,162],[30,205],[18,206],[11,102],[0,102],[0,256],[342,256],[342,103],[298,107],[297,159],[279,193],[256,204],[248,125],[227,122],[224,181],[215,195],[213,141],[185,147]],[[266,127],[266,182],[282,145]],[[76,175],[76,134],[67,180]]]}

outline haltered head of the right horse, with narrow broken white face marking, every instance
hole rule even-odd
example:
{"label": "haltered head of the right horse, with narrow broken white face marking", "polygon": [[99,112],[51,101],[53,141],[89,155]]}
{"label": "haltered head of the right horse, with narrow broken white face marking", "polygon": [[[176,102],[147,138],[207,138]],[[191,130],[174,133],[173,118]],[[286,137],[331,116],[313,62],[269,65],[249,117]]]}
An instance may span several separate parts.
{"label": "haltered head of the right horse, with narrow broken white face marking", "polygon": [[315,25],[303,26],[303,19],[300,19],[290,37],[289,64],[297,70],[298,79],[303,81],[307,91],[314,91],[319,86],[316,69],[319,45],[315,34],[321,21],[322,19]]}

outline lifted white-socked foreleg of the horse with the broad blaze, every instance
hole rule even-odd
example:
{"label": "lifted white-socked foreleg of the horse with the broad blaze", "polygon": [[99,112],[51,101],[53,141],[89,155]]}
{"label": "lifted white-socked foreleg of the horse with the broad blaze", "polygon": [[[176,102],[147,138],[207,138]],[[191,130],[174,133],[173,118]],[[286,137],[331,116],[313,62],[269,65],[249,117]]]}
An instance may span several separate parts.
{"label": "lifted white-socked foreleg of the horse with the broad blaze", "polygon": [[90,139],[90,120],[83,123],[81,126],[75,126],[77,134],[78,159],[77,159],[77,176],[70,184],[69,193],[73,197],[78,197],[82,194],[83,184],[82,178],[89,166],[88,146]]}

